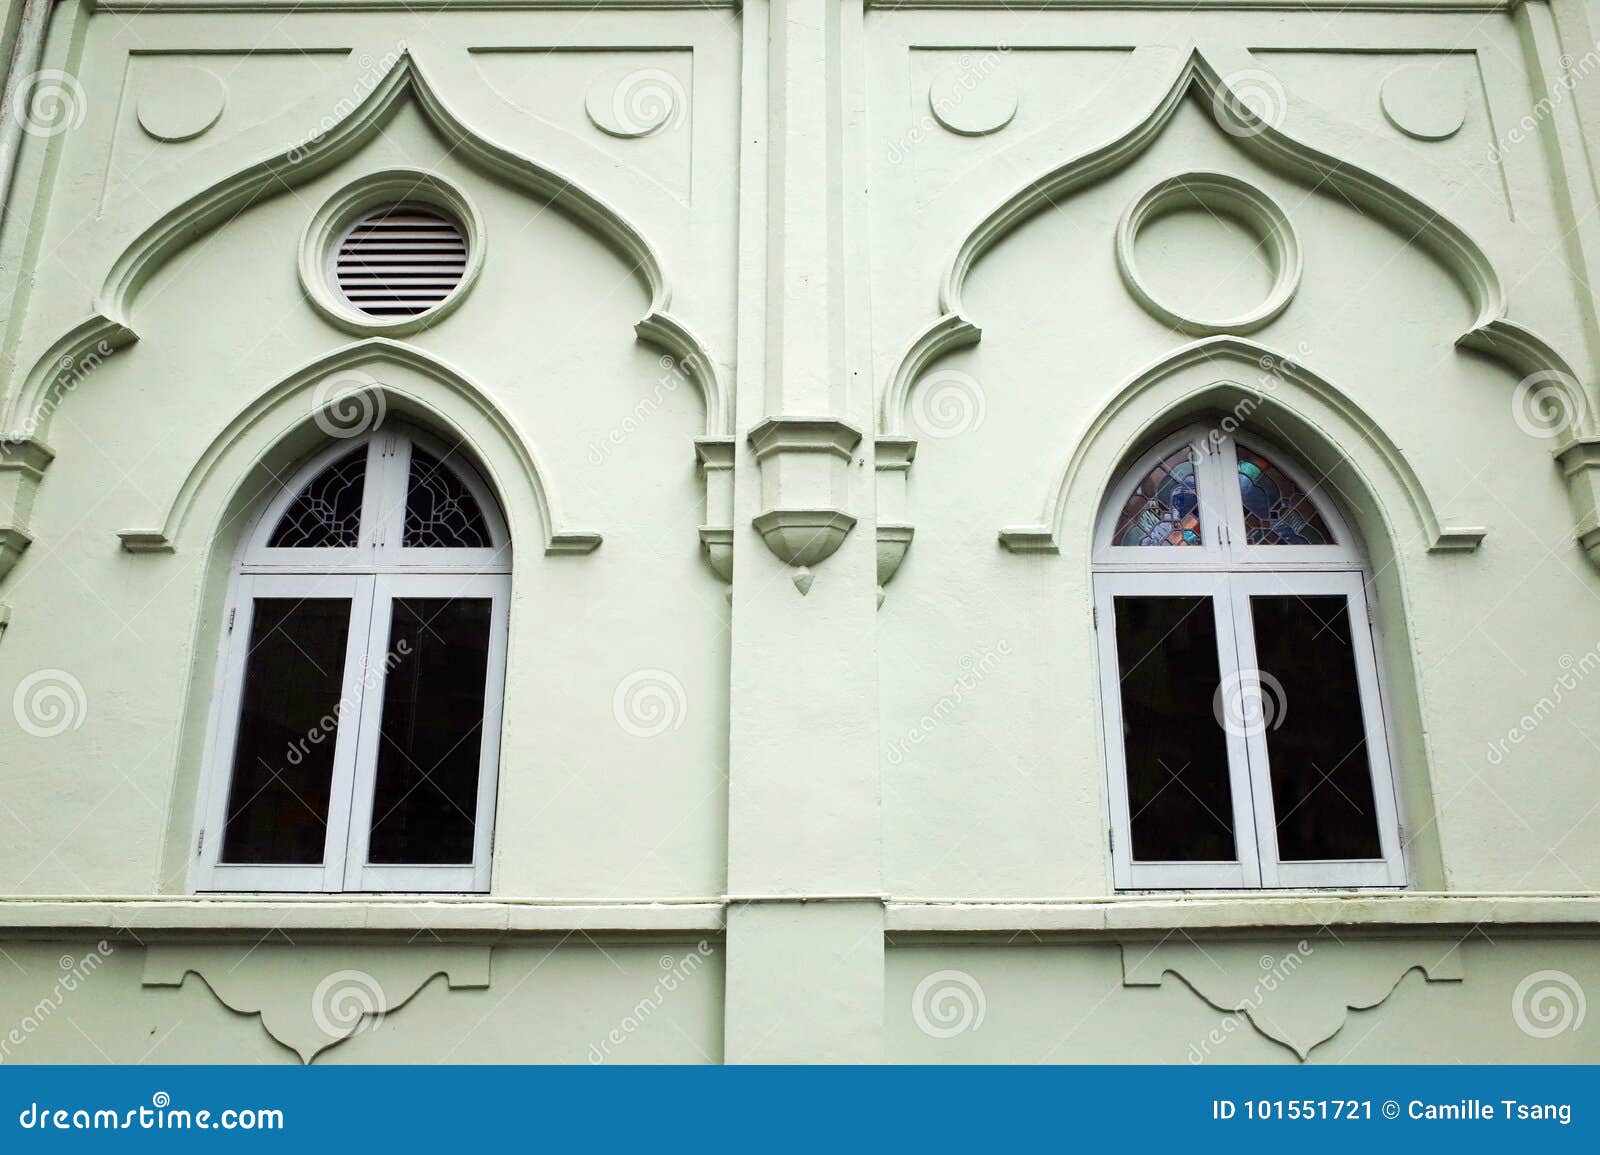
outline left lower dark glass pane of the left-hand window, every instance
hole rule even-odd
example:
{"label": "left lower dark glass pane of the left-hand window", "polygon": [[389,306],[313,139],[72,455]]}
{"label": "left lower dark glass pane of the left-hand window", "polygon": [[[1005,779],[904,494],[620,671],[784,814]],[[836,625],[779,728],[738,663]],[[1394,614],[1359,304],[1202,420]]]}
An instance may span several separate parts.
{"label": "left lower dark glass pane of the left-hand window", "polygon": [[256,598],[224,862],[322,862],[349,633],[349,598]]}

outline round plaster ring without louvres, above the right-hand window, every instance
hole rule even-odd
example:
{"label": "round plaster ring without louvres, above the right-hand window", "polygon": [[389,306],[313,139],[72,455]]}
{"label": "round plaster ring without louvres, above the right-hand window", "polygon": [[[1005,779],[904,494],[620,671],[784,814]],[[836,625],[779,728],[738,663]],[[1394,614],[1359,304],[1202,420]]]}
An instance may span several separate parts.
{"label": "round plaster ring without louvres, above the right-hand window", "polygon": [[[1246,258],[1259,258],[1267,266],[1267,286],[1259,299],[1240,306],[1216,307],[1203,299],[1174,299],[1155,288],[1150,270],[1139,267],[1136,245],[1141,230],[1181,213],[1206,222],[1227,222],[1243,230],[1250,250]],[[1218,253],[1214,266],[1221,274],[1238,264],[1238,253]],[[1299,238],[1288,216],[1266,192],[1226,173],[1179,173],[1141,194],[1117,224],[1117,270],[1133,299],[1152,317],[1192,336],[1218,333],[1254,333],[1282,314],[1301,280]]]}

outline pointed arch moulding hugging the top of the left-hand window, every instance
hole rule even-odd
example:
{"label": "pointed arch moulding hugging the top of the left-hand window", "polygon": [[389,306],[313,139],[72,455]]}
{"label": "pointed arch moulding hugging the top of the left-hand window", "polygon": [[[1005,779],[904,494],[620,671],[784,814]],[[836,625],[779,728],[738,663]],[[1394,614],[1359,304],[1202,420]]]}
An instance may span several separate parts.
{"label": "pointed arch moulding hugging the top of the left-hand window", "polygon": [[[435,398],[419,395],[403,381],[386,379],[386,366],[410,370],[429,382],[442,386],[448,397],[461,405],[442,406]],[[504,406],[482,386],[414,346],[389,338],[368,338],[318,357],[256,397],[211,438],[205,453],[178,486],[165,515],[152,518],[155,528],[123,530],[117,534],[122,539],[122,547],[130,554],[174,552],[190,510],[202,494],[216,488],[213,478],[218,480],[218,486],[229,493],[237,491],[250,469],[258,464],[256,446],[261,443],[275,445],[296,429],[318,421],[323,414],[328,414],[326,429],[341,429],[341,406],[350,406],[352,402],[358,403],[355,408],[360,410],[363,419],[381,418],[395,410],[421,411],[469,442],[472,438],[462,430],[459,416],[472,414],[486,421],[501,445],[514,454],[515,477],[507,477],[506,469],[494,467],[498,446],[477,445],[477,464],[488,470],[502,502],[507,502],[518,490],[531,494],[544,531],[544,552],[589,554],[600,546],[598,533],[571,530],[562,523],[555,499],[544,480],[547,474],[534,459],[531,442],[507,416]],[[461,408],[462,413],[453,414],[451,408]],[[259,429],[267,430],[266,442],[251,437]],[[238,453],[234,453],[235,450]]]}

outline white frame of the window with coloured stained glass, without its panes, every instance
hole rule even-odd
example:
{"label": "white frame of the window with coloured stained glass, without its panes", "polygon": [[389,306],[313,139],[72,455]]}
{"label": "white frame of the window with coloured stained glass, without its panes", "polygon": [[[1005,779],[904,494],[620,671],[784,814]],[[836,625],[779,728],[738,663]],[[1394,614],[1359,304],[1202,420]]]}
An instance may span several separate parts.
{"label": "white frame of the window with coloured stained glass, without its panes", "polygon": [[[1250,546],[1238,499],[1238,459],[1230,435],[1194,426],[1163,438],[1128,467],[1107,491],[1094,530],[1094,625],[1099,659],[1101,718],[1106,742],[1112,829],[1112,880],[1118,889],[1254,888],[1398,888],[1406,885],[1394,750],[1384,717],[1382,672],[1373,625],[1371,574],[1360,539],[1330,496],[1291,454],[1246,434],[1250,448],[1282,469],[1315,502],[1333,533],[1333,546]],[[1181,445],[1197,454],[1200,546],[1114,546],[1112,533],[1133,488]],[[1218,637],[1218,672],[1250,678],[1256,669],[1251,595],[1344,595],[1352,654],[1366,729],[1381,857],[1296,861],[1278,857],[1266,733],[1227,733],[1234,800],[1235,862],[1147,862],[1133,859],[1128,771],[1122,741],[1122,672],[1117,656],[1117,597],[1211,598]],[[1365,629],[1363,629],[1365,627]],[[1246,693],[1256,686],[1245,686]]]}

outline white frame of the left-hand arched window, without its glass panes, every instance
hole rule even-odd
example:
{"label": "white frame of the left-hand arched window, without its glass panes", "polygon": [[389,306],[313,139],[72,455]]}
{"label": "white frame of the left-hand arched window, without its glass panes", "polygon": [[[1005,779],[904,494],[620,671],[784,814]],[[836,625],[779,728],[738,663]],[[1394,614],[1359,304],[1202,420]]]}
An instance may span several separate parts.
{"label": "white frame of the left-hand arched window, without its glass panes", "polygon": [[[406,478],[411,448],[419,445],[467,488],[490,531],[486,549],[405,549]],[[283,512],[323,469],[355,448],[366,450],[362,522],[354,549],[272,549],[266,542]],[[317,865],[246,865],[222,862],[234,745],[238,737],[251,616],[258,597],[339,597],[350,600],[342,718],[334,737],[328,835]],[[368,864],[386,654],[392,605],[411,597],[488,598],[490,649],[485,717],[478,757],[478,797],[470,864]],[[504,715],[506,641],[510,611],[510,534],[490,486],[462,458],[435,438],[384,426],[362,438],[344,438],[307,461],[264,502],[245,534],[229,584],[218,654],[216,694],[206,729],[205,765],[197,798],[195,891],[270,893],[486,893],[494,835],[499,744]],[[370,673],[368,673],[370,672]]]}

